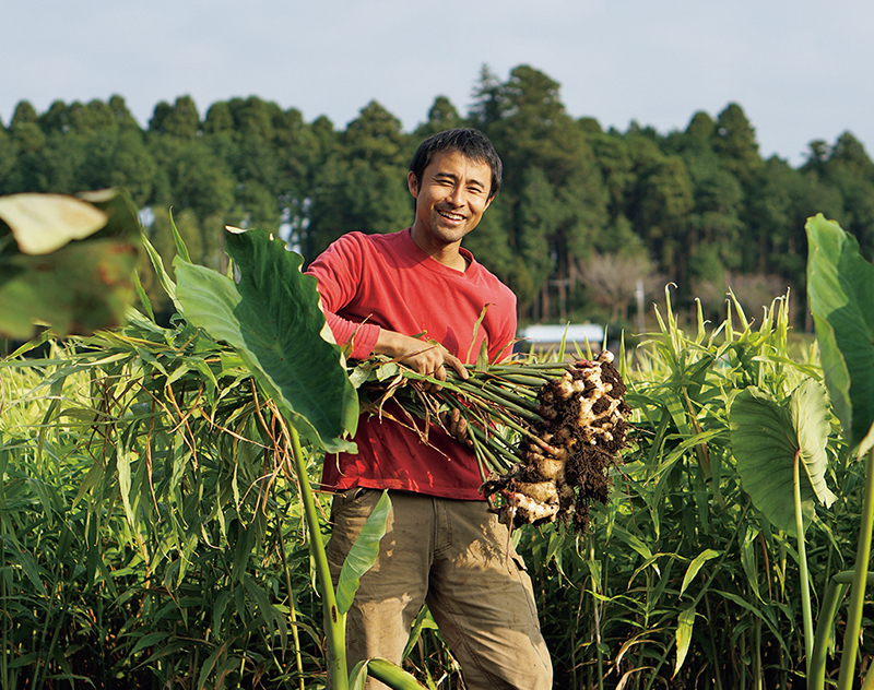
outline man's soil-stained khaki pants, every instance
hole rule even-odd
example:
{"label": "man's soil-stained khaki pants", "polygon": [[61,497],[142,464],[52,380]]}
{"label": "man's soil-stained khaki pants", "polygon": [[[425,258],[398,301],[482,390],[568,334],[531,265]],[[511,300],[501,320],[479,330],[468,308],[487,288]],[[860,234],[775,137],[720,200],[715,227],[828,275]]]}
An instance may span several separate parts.
{"label": "man's soil-stained khaki pants", "polygon": [[[350,489],[334,497],[327,547],[334,583],[380,496]],[[362,578],[346,621],[350,670],[374,656],[400,664],[413,619],[427,603],[468,690],[552,688],[531,579],[486,503],[403,491],[390,496],[379,558]]]}

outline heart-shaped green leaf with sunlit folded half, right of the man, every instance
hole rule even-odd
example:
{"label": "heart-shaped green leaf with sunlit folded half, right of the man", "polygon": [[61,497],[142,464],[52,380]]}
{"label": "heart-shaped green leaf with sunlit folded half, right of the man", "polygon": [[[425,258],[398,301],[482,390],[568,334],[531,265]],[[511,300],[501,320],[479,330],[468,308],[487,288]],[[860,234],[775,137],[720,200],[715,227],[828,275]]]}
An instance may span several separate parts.
{"label": "heart-shaped green leaf with sunlit folded half, right of the man", "polygon": [[822,386],[805,380],[792,392],[790,409],[757,388],[747,388],[732,402],[729,421],[744,491],[773,526],[798,536],[795,453],[800,453],[805,526],[813,515],[814,499],[826,505],[835,500],[825,485],[828,406]]}

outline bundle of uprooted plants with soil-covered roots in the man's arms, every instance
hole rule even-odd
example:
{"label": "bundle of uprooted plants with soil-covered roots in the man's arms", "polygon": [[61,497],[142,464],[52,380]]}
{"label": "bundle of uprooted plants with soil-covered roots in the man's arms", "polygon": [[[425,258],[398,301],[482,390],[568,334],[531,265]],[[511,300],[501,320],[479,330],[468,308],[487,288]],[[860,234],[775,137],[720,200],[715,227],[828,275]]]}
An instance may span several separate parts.
{"label": "bundle of uprooted plants with soil-covered roots in the man's arms", "polygon": [[[574,362],[509,361],[452,369],[434,379],[385,357],[361,362],[352,374],[365,408],[394,418],[428,440],[433,421],[447,432],[452,411],[466,421],[480,463],[482,491],[512,527],[548,522],[584,532],[592,501],[605,503],[609,472],[626,444],[625,384],[604,350]],[[394,401],[400,406],[388,405]]]}

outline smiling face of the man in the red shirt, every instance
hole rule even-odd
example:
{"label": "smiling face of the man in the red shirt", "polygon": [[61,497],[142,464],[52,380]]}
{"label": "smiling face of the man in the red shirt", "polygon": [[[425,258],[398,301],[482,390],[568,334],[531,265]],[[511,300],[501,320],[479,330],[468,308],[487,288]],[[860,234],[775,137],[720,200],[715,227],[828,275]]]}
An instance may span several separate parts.
{"label": "smiling face of the man in the red shirt", "polygon": [[416,200],[413,234],[434,248],[461,241],[492,203],[492,168],[458,151],[436,154],[421,183],[412,172],[406,181]]}

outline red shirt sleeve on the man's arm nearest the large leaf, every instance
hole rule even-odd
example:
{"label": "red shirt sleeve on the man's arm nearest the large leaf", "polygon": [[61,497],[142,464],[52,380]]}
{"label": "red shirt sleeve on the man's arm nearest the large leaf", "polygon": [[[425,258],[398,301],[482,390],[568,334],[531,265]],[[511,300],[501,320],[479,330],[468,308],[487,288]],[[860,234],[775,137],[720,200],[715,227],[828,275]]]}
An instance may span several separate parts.
{"label": "red shirt sleeve on the man's arm nearest the large leaf", "polygon": [[343,307],[357,294],[364,271],[364,253],[356,238],[343,236],[324,250],[307,269],[307,274],[318,281],[321,307],[328,326],[339,345],[352,343],[352,358],[365,359],[374,350],[379,337],[375,323],[359,323],[345,319]]}

